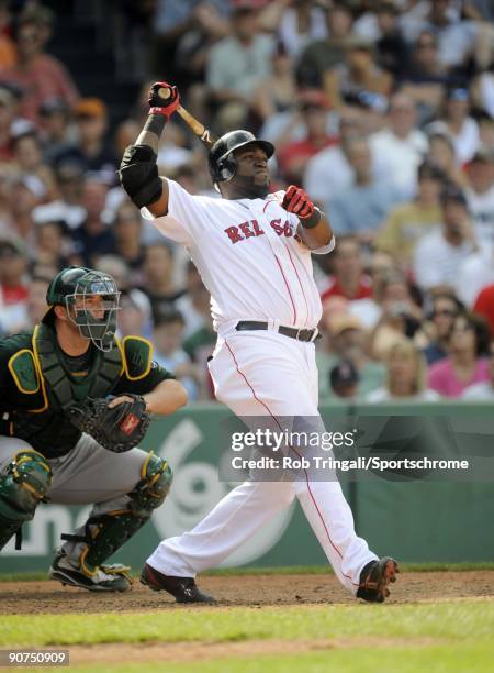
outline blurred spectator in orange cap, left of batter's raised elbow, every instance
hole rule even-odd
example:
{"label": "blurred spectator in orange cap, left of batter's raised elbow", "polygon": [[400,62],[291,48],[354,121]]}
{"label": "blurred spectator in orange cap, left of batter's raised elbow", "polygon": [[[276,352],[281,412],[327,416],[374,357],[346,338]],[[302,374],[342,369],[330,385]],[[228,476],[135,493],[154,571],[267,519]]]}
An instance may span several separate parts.
{"label": "blurred spectator in orange cap, left of batter's raised elbow", "polygon": [[82,170],[106,174],[108,181],[114,181],[116,162],[106,139],[106,106],[99,98],[82,98],[72,112],[77,124],[77,144],[55,155],[53,162],[56,165],[79,163]]}

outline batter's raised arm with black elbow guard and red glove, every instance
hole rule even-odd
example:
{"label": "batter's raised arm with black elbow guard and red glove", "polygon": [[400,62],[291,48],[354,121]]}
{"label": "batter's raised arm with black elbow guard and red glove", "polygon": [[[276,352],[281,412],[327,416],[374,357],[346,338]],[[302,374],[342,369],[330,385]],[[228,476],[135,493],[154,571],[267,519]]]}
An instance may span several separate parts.
{"label": "batter's raised arm with black elbow guard and red glove", "polygon": [[[167,89],[168,98],[158,91]],[[120,181],[137,208],[146,207],[154,216],[168,212],[168,184],[158,175],[158,144],[165,124],[180,104],[177,87],[165,81],[149,89],[149,115],[134,145],[130,145],[120,165]]]}

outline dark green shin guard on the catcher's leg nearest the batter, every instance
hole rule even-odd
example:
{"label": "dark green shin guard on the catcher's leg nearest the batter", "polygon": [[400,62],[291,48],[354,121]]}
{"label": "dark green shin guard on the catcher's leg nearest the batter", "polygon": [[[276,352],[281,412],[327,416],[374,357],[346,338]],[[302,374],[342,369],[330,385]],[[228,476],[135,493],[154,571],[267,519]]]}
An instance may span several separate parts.
{"label": "dark green shin guard on the catcher's leg nearest the batter", "polygon": [[172,479],[168,463],[150,453],[143,464],[141,476],[141,481],[128,494],[128,509],[90,517],[82,538],[63,536],[65,540],[86,542],[79,564],[88,575],[132,538],[146,523],[153,510],[165,500]]}

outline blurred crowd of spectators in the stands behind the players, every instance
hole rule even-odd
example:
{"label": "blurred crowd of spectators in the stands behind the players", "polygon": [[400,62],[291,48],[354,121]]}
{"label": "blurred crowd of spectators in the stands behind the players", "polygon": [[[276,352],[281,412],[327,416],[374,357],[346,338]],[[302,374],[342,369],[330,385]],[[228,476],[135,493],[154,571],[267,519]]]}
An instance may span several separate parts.
{"label": "blurred crowd of spectators in the stands behind the players", "polygon": [[[214,133],[274,143],[273,188],[303,186],[329,217],[336,250],[313,257],[322,402],[494,399],[492,1],[109,4],[115,58],[142,81],[116,124],[49,54],[52,11],[0,0],[0,334],[40,320],[59,268],[99,268],[122,290],[120,334],[212,399],[209,294],[115,174],[165,78]],[[160,173],[214,194],[204,159],[173,119]]]}

